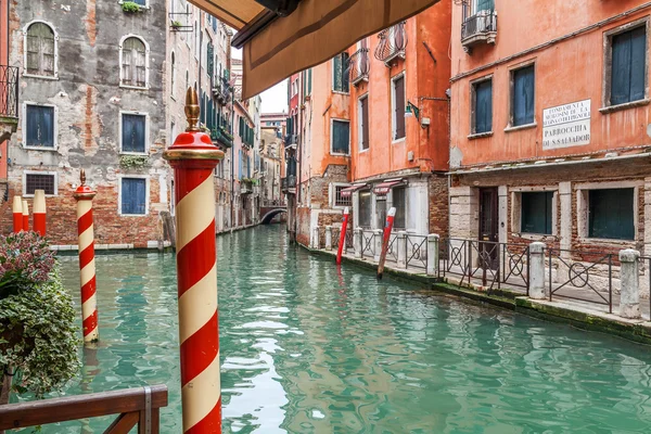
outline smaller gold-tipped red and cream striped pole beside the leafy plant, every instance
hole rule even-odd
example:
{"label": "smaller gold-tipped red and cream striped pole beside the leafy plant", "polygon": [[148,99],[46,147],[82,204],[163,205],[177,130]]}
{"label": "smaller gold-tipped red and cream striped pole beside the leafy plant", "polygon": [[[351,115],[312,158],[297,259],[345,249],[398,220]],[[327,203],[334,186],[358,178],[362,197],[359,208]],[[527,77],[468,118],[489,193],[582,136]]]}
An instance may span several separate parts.
{"label": "smaller gold-tipped red and cream striped pole beside the leafy plant", "polygon": [[92,225],[92,200],[94,192],[86,184],[86,173],[81,169],[81,184],[73,196],[77,201],[77,233],[79,235],[79,278],[81,283],[81,318],[84,320],[84,342],[100,339],[98,328],[98,298],[94,266],[94,233]]}

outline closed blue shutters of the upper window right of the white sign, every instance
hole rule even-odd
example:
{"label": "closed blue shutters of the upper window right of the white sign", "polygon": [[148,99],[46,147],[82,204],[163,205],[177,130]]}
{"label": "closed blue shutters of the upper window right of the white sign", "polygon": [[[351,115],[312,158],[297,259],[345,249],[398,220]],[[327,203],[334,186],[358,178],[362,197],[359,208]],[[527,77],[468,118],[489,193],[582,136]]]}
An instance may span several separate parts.
{"label": "closed blue shutters of the upper window right of the white sign", "polygon": [[635,28],[611,39],[610,105],[644,99],[647,28]]}

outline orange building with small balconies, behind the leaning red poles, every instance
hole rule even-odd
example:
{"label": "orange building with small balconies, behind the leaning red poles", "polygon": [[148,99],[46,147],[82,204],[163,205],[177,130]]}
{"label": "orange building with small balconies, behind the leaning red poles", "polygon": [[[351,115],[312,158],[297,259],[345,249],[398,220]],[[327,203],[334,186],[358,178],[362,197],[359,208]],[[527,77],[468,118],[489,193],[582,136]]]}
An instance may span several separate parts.
{"label": "orange building with small balconies, behind the leaning red poles", "polygon": [[[297,239],[337,226],[447,232],[450,2],[371,35],[290,80],[301,135]],[[292,104],[290,104],[292,113]],[[320,240],[320,244],[323,240]]]}

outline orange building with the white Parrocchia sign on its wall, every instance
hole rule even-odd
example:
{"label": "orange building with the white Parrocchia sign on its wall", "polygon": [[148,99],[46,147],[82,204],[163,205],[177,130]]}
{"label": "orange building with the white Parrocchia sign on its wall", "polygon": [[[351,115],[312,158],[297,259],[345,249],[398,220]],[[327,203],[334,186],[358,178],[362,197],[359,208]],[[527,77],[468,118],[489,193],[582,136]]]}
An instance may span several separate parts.
{"label": "orange building with the white Parrocchia sign on its wall", "polygon": [[650,14],[639,0],[452,7],[452,237],[650,252]]}

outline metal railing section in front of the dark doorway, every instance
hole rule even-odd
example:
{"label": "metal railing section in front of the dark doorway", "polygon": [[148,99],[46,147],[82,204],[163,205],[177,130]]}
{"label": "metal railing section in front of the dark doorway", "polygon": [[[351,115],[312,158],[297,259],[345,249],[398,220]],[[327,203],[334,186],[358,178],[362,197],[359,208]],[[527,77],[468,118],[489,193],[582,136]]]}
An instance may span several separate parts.
{"label": "metal railing section in front of the dark doorway", "polygon": [[459,285],[478,279],[488,292],[506,283],[523,288],[528,295],[529,247],[526,244],[448,239],[441,242],[439,255],[439,276],[459,276]]}

